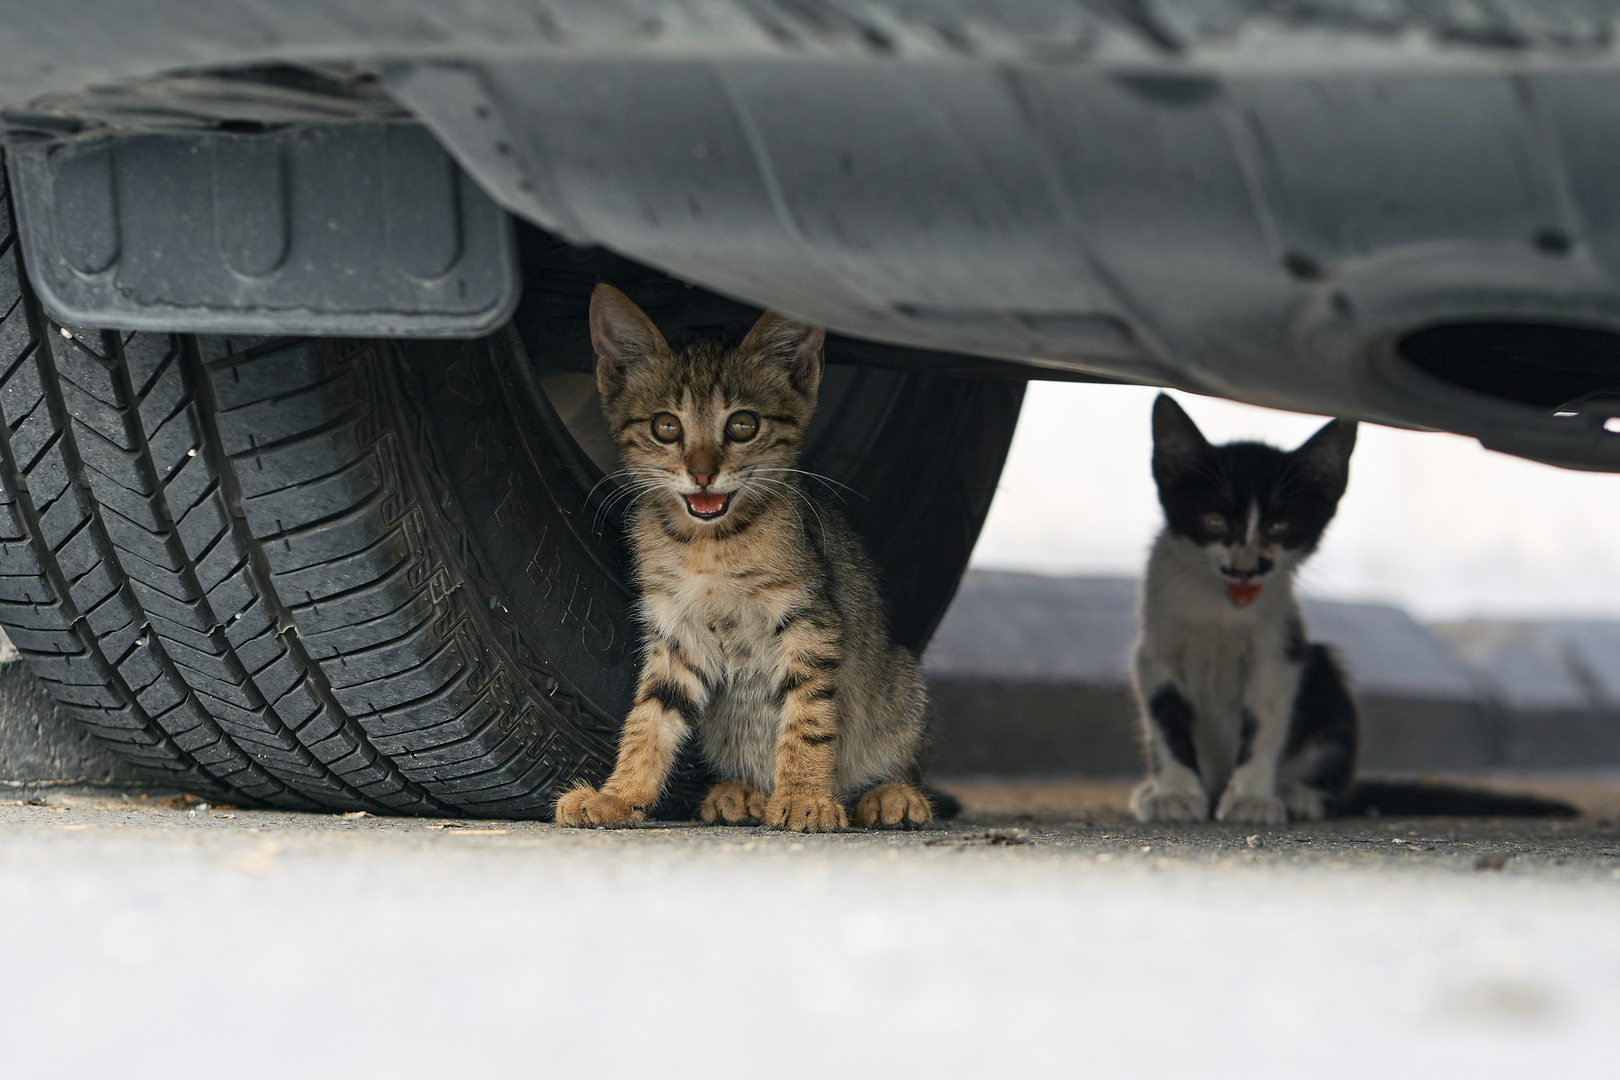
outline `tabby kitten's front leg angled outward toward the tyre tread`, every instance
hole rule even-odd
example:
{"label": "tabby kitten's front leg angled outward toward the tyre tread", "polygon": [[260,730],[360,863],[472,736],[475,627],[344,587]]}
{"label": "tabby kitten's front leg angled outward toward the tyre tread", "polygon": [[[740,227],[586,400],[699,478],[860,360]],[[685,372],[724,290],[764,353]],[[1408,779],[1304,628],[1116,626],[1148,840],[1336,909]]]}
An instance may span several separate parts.
{"label": "tabby kitten's front leg angled outward toward the tyre tread", "polygon": [[632,826],[664,790],[664,776],[703,706],[708,688],[695,670],[661,640],[642,665],[635,706],[619,733],[619,761],[601,790],[580,784],[557,800],[564,826]]}

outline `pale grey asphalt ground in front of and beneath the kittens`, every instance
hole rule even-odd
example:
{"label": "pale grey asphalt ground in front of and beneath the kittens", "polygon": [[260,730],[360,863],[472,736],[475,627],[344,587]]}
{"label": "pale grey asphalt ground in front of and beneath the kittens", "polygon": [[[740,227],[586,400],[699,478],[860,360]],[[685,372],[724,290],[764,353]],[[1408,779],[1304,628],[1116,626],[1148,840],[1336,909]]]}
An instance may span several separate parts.
{"label": "pale grey asphalt ground in front of and beneath the kittens", "polygon": [[957,782],[919,832],[0,800],[34,1077],[1612,1077],[1620,776],[1571,821],[1140,826]]}

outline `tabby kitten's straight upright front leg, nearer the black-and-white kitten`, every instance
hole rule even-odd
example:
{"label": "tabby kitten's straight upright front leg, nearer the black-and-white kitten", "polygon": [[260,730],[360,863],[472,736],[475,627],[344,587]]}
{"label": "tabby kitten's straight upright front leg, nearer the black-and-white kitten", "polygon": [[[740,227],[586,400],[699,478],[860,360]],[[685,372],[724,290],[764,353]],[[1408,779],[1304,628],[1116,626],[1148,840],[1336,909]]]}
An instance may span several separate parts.
{"label": "tabby kitten's straight upright front leg, nearer the black-and-white kitten", "polygon": [[844,805],[833,798],[839,657],[831,641],[794,640],[807,635],[791,631],[782,636],[791,659],[778,690],[782,727],[765,824],[795,832],[833,832],[849,824]]}

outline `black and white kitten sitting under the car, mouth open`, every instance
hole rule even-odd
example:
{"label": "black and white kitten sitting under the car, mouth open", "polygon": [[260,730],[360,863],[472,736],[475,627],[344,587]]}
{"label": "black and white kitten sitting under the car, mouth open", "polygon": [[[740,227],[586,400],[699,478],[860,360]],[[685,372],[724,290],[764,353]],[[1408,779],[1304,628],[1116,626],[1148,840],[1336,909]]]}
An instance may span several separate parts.
{"label": "black and white kitten sitting under the car, mouth open", "polygon": [[1354,421],[1335,419],[1293,452],[1215,447],[1166,395],[1153,402],[1165,528],[1132,667],[1142,821],[1319,819],[1349,789],[1356,704],[1333,656],[1306,640],[1294,572],[1333,520],[1354,445]]}

